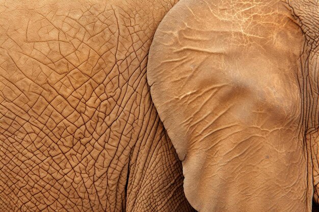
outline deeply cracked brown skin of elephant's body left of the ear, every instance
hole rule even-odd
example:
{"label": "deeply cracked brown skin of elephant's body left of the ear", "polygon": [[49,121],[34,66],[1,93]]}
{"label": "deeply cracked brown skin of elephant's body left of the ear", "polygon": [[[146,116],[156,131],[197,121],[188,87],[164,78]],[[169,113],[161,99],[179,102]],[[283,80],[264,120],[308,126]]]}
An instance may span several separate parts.
{"label": "deeply cracked brown skin of elephant's body left of the ear", "polygon": [[146,81],[176,1],[0,2],[0,211],[193,211]]}

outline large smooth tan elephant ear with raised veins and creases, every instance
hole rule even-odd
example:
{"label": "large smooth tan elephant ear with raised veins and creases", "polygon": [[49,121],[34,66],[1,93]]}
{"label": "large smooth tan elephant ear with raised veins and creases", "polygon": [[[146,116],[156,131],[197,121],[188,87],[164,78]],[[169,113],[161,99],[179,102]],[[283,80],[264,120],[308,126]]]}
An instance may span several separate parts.
{"label": "large smooth tan elephant ear with raised veins and creases", "polygon": [[147,79],[198,211],[311,210],[304,41],[280,1],[181,0],[158,26]]}

